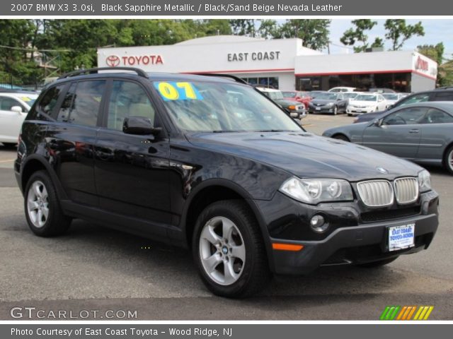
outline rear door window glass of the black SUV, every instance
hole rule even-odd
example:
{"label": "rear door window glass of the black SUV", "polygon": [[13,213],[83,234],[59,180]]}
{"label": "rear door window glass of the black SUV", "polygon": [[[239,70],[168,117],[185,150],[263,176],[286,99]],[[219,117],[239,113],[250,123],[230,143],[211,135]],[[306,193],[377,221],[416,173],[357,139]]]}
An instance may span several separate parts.
{"label": "rear door window glass of the black SUV", "polygon": [[80,81],[69,87],[58,112],[58,121],[96,126],[105,81]]}

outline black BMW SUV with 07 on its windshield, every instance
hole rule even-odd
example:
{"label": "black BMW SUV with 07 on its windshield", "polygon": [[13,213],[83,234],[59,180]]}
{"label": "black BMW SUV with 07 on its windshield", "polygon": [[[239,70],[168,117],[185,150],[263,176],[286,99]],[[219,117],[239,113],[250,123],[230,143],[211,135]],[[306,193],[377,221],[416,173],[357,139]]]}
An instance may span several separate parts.
{"label": "black BMW SUV with 07 on its windshield", "polygon": [[25,119],[14,168],[35,234],[83,218],[190,248],[226,297],[430,245],[438,195],[418,165],[307,133],[239,78],[113,70],[63,76]]}

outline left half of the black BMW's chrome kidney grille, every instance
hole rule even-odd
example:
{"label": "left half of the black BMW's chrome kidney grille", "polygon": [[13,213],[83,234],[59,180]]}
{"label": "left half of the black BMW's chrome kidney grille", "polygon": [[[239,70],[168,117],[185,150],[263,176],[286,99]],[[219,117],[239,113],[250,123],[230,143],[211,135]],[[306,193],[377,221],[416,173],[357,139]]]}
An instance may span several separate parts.
{"label": "left half of the black BMW's chrome kidney grille", "polygon": [[386,180],[370,180],[357,184],[360,198],[369,207],[389,206],[394,203],[394,190]]}

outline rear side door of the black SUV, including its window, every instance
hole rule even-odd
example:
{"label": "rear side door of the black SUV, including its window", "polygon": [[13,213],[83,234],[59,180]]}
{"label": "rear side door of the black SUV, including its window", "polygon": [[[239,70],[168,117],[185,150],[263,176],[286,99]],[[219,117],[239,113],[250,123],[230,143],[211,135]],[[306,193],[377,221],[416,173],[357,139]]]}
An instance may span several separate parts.
{"label": "rear side door of the black SUV, including its window", "polygon": [[57,103],[47,129],[47,148],[64,191],[76,203],[98,206],[94,182],[94,143],[105,80],[74,81]]}

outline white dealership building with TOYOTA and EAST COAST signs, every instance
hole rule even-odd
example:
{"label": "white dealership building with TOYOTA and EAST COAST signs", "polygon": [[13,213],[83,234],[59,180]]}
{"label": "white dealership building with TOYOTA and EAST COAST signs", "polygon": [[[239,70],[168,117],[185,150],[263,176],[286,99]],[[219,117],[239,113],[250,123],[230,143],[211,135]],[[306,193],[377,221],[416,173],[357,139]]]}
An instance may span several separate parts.
{"label": "white dealership building with TOYOTA and EAST COAST signs", "polygon": [[323,54],[300,39],[236,35],[201,37],[173,45],[98,49],[98,66],[149,72],[226,73],[281,90],[336,86],[418,92],[435,88],[437,63],[418,52]]}

